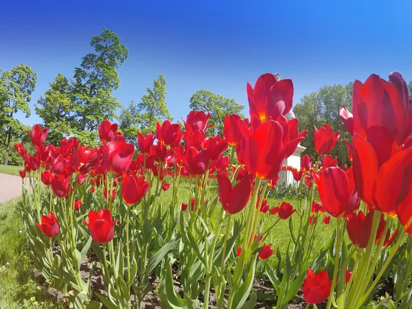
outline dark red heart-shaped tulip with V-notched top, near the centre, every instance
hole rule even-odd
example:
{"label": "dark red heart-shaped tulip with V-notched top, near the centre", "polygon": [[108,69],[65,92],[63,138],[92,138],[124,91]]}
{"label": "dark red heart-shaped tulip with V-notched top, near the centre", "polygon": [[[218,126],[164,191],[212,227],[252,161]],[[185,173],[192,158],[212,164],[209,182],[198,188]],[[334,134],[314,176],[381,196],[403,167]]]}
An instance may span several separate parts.
{"label": "dark red heart-shaped tulip with V-notched top, near the centre", "polygon": [[223,209],[228,214],[237,214],[247,205],[251,196],[251,183],[249,179],[243,179],[232,187],[231,182],[226,176],[218,175],[218,194],[219,201]]}

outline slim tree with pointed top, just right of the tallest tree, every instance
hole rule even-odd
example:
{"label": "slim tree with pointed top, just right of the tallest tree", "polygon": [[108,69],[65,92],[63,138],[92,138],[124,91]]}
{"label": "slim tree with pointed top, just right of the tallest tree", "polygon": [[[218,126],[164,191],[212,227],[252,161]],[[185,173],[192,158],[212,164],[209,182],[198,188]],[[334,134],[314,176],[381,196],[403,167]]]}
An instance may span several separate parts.
{"label": "slim tree with pointed top, just right of the tallest tree", "polygon": [[163,74],[153,81],[153,88],[146,87],[147,93],[141,97],[141,102],[137,105],[135,117],[140,130],[143,133],[155,132],[156,123],[164,119],[173,120],[166,103],[166,79]]}

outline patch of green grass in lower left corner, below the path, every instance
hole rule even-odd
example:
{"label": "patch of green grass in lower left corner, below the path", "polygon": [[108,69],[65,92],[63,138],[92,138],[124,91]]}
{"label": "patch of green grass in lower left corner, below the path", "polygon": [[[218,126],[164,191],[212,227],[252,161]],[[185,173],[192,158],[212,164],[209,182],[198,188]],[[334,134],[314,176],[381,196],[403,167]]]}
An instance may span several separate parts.
{"label": "patch of green grass in lower left corner, below the path", "polygon": [[[14,201],[21,203],[21,198]],[[0,308],[56,308],[51,295],[33,279],[33,263],[14,201],[0,205]]]}

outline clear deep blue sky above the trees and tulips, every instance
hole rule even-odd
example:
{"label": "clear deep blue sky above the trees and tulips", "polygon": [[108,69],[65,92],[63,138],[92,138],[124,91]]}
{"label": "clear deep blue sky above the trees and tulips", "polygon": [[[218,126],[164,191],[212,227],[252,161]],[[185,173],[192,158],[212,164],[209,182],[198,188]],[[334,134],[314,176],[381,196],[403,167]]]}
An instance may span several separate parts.
{"label": "clear deep blue sky above the trees and tulips", "polygon": [[92,49],[103,27],[128,47],[115,91],[140,102],[163,73],[172,116],[208,89],[247,105],[246,83],[279,72],[295,83],[294,102],[325,84],[392,70],[412,80],[412,1],[3,1],[0,68],[24,62],[38,74],[34,103]]}

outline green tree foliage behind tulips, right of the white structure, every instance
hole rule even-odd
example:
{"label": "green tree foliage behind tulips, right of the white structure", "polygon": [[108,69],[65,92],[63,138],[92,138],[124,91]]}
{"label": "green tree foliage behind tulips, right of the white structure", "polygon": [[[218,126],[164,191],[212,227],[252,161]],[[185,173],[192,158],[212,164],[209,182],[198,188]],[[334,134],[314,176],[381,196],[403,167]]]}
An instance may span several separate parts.
{"label": "green tree foliage behind tulips, right of the white structure", "polygon": [[301,142],[301,145],[306,147],[304,155],[316,156],[313,146],[314,126],[320,128],[323,124],[329,124],[334,132],[339,130],[341,133],[341,139],[330,155],[338,157],[339,163],[350,163],[342,140],[352,141],[352,137],[343,127],[339,109],[345,105],[348,110],[352,110],[352,87],[353,83],[321,87],[316,92],[304,95],[300,102],[295,104],[293,112],[299,119],[299,130],[309,130],[305,140]]}

